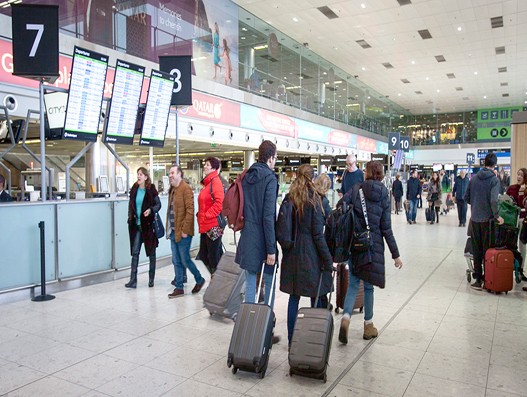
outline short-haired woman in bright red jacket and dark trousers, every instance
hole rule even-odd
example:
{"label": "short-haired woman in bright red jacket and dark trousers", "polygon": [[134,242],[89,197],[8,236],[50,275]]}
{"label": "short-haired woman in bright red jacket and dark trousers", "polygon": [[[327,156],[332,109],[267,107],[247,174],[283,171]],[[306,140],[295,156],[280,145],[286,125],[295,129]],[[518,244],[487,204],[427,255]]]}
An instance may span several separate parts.
{"label": "short-haired woman in bright red jacket and dark trousers", "polygon": [[223,229],[218,224],[218,215],[223,208],[225,192],[218,176],[220,161],[214,157],[205,159],[203,166],[203,189],[198,196],[198,226],[201,235],[198,258],[203,261],[210,274],[216,271],[222,251]]}

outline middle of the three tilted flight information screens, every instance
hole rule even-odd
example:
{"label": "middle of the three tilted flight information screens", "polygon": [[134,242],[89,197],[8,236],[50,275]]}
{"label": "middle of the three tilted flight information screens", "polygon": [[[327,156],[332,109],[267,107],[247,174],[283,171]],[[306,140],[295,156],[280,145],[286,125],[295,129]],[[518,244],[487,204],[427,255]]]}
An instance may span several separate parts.
{"label": "middle of the three tilted flight information screens", "polygon": [[125,145],[134,143],[144,73],[144,66],[117,60],[105,142]]}

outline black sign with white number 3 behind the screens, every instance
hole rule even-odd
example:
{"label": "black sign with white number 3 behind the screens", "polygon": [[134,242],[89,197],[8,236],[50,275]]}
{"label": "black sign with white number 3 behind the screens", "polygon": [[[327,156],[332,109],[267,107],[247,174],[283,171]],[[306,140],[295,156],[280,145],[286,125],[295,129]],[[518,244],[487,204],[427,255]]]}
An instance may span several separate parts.
{"label": "black sign with white number 3 behind the screens", "polygon": [[192,105],[192,60],[190,55],[159,57],[159,69],[174,76],[171,105]]}

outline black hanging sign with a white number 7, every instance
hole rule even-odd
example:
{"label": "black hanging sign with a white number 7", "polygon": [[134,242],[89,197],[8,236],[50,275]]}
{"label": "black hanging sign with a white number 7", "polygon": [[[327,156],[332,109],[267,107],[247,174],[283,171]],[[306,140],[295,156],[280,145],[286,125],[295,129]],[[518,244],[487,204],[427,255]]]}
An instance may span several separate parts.
{"label": "black hanging sign with a white number 7", "polygon": [[53,82],[59,76],[59,7],[12,5],[13,74]]}

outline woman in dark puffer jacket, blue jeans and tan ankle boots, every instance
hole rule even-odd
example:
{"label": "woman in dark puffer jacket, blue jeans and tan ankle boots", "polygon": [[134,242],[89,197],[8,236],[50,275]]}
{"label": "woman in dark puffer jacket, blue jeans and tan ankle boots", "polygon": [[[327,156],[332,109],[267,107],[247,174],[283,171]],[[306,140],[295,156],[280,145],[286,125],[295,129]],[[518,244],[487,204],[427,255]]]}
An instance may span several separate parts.
{"label": "woman in dark puffer jacket, blue jeans and tan ankle boots", "polygon": [[383,239],[388,243],[392,258],[395,261],[395,267],[400,269],[403,266],[392,232],[390,194],[386,186],[382,184],[382,179],[382,164],[378,161],[370,161],[366,164],[366,181],[355,186],[353,194],[348,196],[353,205],[355,230],[358,232],[365,231],[366,220],[359,190],[362,189],[363,191],[372,246],[367,252],[352,252],[349,260],[349,285],[339,332],[339,341],[343,344],[348,343],[350,316],[360,280],[364,281],[364,333],[362,337],[368,340],[378,335],[377,329],[373,325],[373,286],[379,288],[385,286]]}

